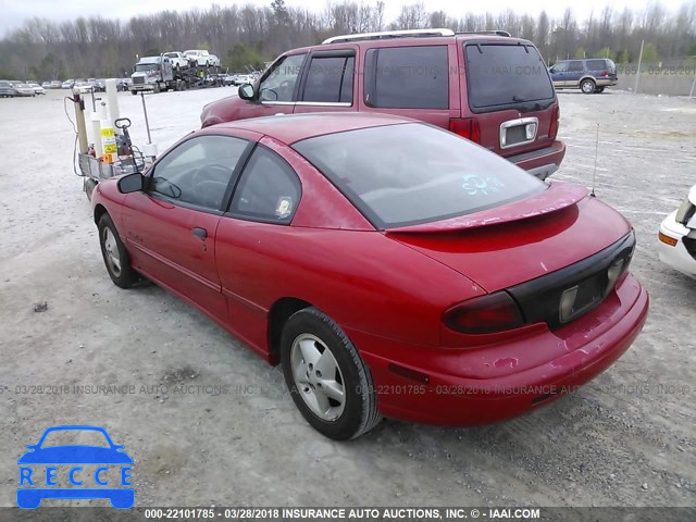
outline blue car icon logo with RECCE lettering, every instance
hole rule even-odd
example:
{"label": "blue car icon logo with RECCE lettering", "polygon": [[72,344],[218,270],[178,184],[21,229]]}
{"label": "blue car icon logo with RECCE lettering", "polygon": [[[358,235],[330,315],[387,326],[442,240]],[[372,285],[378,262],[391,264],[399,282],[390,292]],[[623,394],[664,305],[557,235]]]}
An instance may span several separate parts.
{"label": "blue car icon logo with RECCE lettering", "polygon": [[[47,437],[54,439],[57,435],[70,439],[96,436],[102,445],[50,445]],[[130,481],[133,459],[124,451],[124,446],[113,444],[103,427],[52,426],[44,432],[36,445],[29,445],[27,449],[17,461],[20,508],[38,508],[44,498],[108,498],[111,506],[117,509],[128,509],[135,504]],[[59,484],[61,481],[63,484]],[[74,487],[62,487],[69,484]]]}

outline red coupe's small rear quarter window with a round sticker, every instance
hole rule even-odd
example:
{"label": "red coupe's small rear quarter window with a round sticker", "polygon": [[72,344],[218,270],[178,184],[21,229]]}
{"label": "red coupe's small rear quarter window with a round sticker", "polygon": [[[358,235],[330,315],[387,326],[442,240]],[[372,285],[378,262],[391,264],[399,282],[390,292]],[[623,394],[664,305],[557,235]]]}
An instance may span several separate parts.
{"label": "red coupe's small rear quarter window with a round sticker", "polygon": [[289,224],[300,196],[300,181],[290,165],[259,146],[241,174],[229,210],[240,217]]}

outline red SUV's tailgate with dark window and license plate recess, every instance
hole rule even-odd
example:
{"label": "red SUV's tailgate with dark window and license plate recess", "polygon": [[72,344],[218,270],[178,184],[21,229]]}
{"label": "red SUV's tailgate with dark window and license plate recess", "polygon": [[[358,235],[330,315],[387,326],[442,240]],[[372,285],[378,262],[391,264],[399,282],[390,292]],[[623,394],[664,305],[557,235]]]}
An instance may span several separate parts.
{"label": "red SUV's tailgate with dark window and license plate recess", "polygon": [[548,147],[556,91],[536,48],[524,40],[463,45],[462,117],[473,117],[481,145],[505,158]]}

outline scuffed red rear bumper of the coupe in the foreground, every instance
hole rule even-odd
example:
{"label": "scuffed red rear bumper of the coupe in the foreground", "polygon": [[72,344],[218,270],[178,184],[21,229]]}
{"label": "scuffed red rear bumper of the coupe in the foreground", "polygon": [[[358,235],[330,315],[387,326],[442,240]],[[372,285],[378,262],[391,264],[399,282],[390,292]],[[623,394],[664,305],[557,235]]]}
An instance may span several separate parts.
{"label": "scuffed red rear bumper of the coupe in the foreground", "polygon": [[[577,321],[504,346],[428,350],[349,335],[370,366],[384,415],[442,425],[486,424],[525,413],[604,372],[641,332],[648,301],[647,291],[629,274],[616,296]],[[428,382],[396,374],[390,364],[427,375]]]}

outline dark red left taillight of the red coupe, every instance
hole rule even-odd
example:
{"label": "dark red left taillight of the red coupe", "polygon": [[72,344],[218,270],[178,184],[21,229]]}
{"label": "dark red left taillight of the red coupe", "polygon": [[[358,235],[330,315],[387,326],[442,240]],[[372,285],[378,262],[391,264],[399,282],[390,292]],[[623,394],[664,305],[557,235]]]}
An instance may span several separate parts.
{"label": "dark red left taillight of the red coupe", "polygon": [[455,304],[443,320],[449,328],[464,334],[493,334],[524,325],[520,308],[507,291]]}

